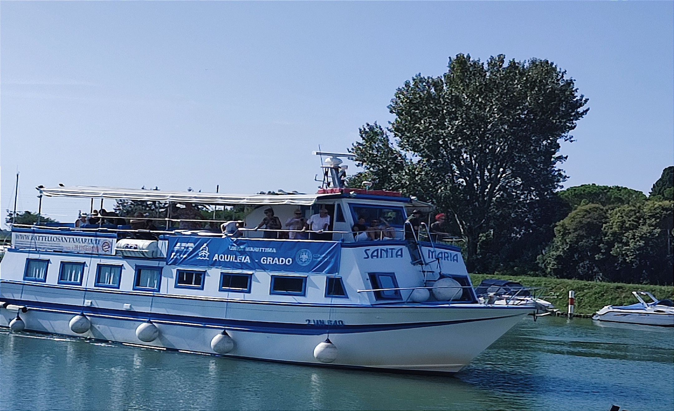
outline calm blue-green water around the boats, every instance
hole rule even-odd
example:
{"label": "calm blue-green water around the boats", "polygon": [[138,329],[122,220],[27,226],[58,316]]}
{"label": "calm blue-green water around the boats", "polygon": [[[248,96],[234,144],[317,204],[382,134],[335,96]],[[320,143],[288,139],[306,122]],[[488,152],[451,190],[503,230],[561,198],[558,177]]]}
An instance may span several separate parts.
{"label": "calm blue-green water around the boats", "polygon": [[674,409],[674,330],[522,320],[454,377],[0,332],[2,410]]}

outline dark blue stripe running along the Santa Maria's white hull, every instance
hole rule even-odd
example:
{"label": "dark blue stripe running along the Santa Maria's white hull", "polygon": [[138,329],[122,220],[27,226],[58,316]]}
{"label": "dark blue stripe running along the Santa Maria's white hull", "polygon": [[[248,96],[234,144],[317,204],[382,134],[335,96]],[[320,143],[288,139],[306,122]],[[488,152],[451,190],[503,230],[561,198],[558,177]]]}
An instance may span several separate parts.
{"label": "dark blue stripe running along the Santa Maria's white hull", "polygon": [[468,320],[441,321],[441,322],[417,322],[401,324],[358,324],[358,325],[324,325],[324,324],[293,324],[276,323],[247,320],[224,320],[222,318],[193,317],[190,315],[164,314],[164,313],[144,313],[140,311],[127,311],[122,309],[109,309],[99,307],[79,307],[75,305],[42,303],[38,301],[20,301],[13,299],[4,299],[5,302],[16,305],[26,305],[28,309],[38,311],[56,311],[59,313],[78,314],[84,312],[89,317],[113,317],[119,320],[129,321],[147,321],[152,320],[161,324],[179,324],[189,327],[217,327],[228,330],[239,330],[248,332],[264,332],[267,334],[295,334],[305,336],[317,336],[330,332],[331,334],[350,334],[355,332],[377,332],[388,330],[406,330],[408,328],[449,326],[452,324],[464,324],[468,322],[500,320],[502,318],[516,317],[522,313],[512,315],[501,315],[489,318],[474,318]]}

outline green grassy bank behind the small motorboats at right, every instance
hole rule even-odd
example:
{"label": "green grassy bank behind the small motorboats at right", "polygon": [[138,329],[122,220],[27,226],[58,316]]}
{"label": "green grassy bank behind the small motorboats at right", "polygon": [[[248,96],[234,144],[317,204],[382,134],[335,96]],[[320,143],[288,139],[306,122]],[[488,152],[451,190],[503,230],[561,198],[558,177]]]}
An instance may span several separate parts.
{"label": "green grassy bank behind the small motorboats at right", "polygon": [[[546,287],[543,299],[550,301],[560,311],[566,312],[569,290],[576,291],[576,313],[590,314],[605,305],[630,305],[637,303],[632,291],[648,291],[658,299],[674,297],[674,287],[622,283],[597,283],[594,281],[563,280],[561,278],[510,275],[470,274],[470,281],[477,286],[485,278],[517,281],[525,287]],[[546,298],[547,297],[547,298]]]}

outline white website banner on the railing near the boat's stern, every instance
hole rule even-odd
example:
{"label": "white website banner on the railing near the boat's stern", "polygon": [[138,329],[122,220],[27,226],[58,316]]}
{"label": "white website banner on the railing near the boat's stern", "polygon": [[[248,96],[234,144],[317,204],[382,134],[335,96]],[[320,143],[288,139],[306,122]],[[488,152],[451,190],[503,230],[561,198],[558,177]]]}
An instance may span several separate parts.
{"label": "white website banner on the railing near the boat's stern", "polygon": [[114,254],[117,239],[51,233],[11,233],[13,248],[87,254]]}

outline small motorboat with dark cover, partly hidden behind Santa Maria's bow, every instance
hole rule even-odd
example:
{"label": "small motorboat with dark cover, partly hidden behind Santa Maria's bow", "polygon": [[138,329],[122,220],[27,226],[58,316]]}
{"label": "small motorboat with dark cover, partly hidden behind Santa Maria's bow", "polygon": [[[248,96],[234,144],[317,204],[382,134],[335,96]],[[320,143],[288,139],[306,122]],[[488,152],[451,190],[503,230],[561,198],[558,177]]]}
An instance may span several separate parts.
{"label": "small motorboat with dark cover, partly hidden behind Santa Maria's bow", "polygon": [[539,311],[555,311],[555,306],[549,301],[532,294],[536,289],[526,288],[515,281],[486,278],[475,287],[475,294],[479,301],[488,305],[535,305]]}

